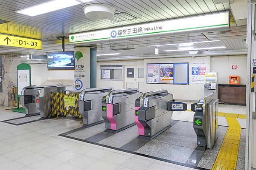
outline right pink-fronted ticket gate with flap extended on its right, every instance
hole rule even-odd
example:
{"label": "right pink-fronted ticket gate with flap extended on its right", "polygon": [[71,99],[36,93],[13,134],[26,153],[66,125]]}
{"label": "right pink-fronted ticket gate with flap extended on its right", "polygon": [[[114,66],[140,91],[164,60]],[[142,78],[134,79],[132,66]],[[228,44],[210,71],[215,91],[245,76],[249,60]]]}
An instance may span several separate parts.
{"label": "right pink-fronted ticket gate with flap extended on its right", "polygon": [[152,140],[171,127],[173,111],[186,111],[187,105],[174,102],[173,95],[167,90],[143,94],[135,102],[135,123],[138,138]]}

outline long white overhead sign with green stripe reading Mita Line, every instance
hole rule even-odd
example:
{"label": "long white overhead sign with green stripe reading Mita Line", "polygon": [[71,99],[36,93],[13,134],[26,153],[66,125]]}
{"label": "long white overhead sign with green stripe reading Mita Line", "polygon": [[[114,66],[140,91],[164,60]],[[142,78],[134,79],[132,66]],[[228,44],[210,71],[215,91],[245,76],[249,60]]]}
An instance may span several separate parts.
{"label": "long white overhead sign with green stripe reading Mita Line", "polygon": [[176,20],[134,25],[102,31],[86,32],[70,35],[70,43],[92,42],[127,37],[142,37],[147,35],[168,34],[186,31],[196,31],[211,28],[229,27],[229,12],[186,17]]}

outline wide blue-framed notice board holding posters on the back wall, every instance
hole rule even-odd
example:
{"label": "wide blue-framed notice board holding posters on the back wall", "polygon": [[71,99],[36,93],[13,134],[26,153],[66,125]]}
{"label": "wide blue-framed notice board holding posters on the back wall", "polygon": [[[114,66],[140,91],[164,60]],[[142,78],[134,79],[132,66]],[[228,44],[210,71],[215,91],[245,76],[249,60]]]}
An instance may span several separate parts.
{"label": "wide blue-framed notice board holding posters on the back wall", "polygon": [[147,64],[147,83],[189,84],[189,63]]}

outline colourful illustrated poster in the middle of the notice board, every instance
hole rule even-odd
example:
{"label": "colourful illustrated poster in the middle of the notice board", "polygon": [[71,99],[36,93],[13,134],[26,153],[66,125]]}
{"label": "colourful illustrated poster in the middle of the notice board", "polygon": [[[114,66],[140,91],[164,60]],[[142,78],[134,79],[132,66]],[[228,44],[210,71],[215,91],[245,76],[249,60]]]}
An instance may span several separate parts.
{"label": "colourful illustrated poster in the middle of the notice board", "polygon": [[160,64],[160,83],[173,83],[173,64]]}

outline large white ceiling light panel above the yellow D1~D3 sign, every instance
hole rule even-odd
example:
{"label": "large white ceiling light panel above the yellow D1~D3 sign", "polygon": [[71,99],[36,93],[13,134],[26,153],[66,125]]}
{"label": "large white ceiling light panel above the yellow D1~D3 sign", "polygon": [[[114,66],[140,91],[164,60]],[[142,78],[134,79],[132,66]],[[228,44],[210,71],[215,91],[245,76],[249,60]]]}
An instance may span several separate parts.
{"label": "large white ceiling light panel above the yellow D1~D3 sign", "polygon": [[91,0],[51,0],[46,3],[41,3],[15,12],[33,17],[89,1]]}

